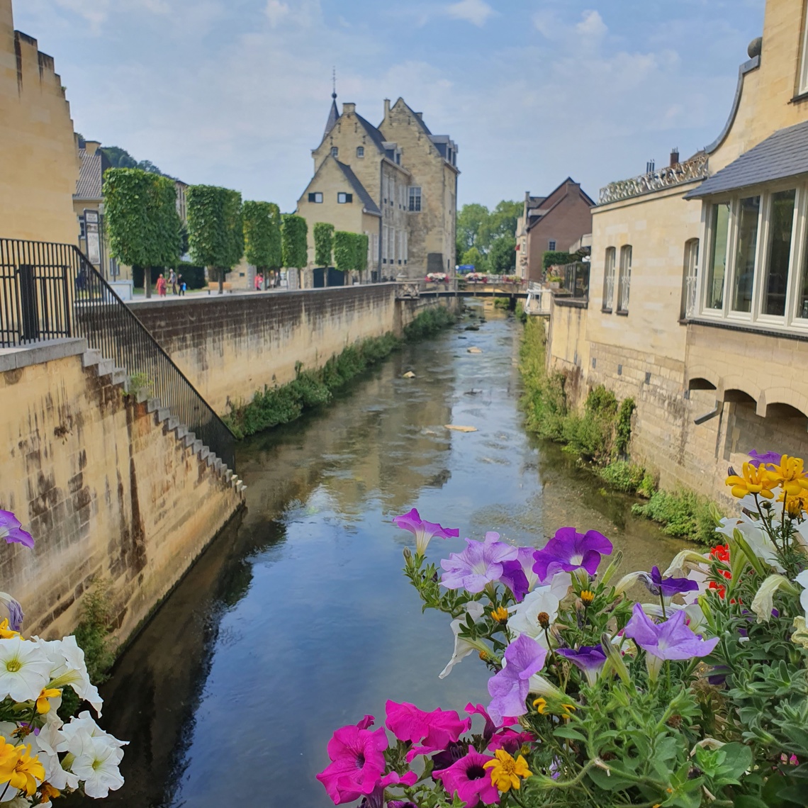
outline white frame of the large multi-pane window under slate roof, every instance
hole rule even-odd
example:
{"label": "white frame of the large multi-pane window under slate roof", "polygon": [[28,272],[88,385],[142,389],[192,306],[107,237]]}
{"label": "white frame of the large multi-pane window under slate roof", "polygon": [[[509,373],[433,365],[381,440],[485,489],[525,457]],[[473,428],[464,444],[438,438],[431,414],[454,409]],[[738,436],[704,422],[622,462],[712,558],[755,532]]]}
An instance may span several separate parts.
{"label": "white frame of the large multi-pane window under slate roof", "polygon": [[[764,314],[764,274],[770,259],[770,243],[772,238],[772,196],[778,191],[796,189],[794,200],[794,218],[792,223],[791,246],[789,252],[789,277],[786,283],[785,314]],[[758,242],[755,249],[755,274],[752,283],[751,312],[738,312],[731,309],[734,294],[734,279],[738,260],[739,239],[739,206],[742,198],[760,196],[760,213],[758,219]],[[701,320],[718,320],[736,322],[747,327],[758,327],[762,330],[775,330],[784,333],[808,335],[808,316],[802,317],[799,297],[802,275],[808,271],[808,183],[795,182],[788,179],[772,183],[763,188],[751,188],[739,191],[730,201],[730,225],[727,236],[726,276],[724,279],[724,300],[722,309],[710,309],[706,303],[708,293],[707,269],[713,250],[712,208],[715,204],[723,204],[726,197],[705,200],[702,205],[701,264],[705,271],[698,274],[698,306],[694,318]],[[808,311],[806,311],[808,315]]]}

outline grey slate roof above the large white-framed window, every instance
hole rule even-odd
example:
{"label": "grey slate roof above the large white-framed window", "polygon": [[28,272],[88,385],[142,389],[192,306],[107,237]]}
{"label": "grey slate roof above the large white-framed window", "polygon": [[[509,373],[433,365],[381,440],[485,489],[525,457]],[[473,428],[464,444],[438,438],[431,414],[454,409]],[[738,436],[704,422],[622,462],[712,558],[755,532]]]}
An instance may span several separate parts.
{"label": "grey slate roof above the large white-framed window", "polygon": [[778,130],[684,198],[699,199],[800,174],[808,174],[808,121]]}

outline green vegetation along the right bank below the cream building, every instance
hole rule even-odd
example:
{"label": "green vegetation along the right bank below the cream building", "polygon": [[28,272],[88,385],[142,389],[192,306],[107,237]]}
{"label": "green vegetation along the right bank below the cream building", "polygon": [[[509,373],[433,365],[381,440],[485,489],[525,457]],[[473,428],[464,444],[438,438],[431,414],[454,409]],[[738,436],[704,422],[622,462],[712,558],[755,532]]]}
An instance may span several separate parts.
{"label": "green vegetation along the right bank below the cream building", "polygon": [[526,318],[520,347],[524,384],[521,404],[525,427],[537,436],[564,445],[608,486],[638,494],[647,503],[635,503],[632,512],[663,525],[668,536],[713,543],[714,522],[709,499],[693,491],[656,490],[654,477],[628,458],[633,398],[618,404],[603,385],[590,390],[583,413],[571,410],[566,398],[566,377],[547,372],[547,339],[540,318]]}

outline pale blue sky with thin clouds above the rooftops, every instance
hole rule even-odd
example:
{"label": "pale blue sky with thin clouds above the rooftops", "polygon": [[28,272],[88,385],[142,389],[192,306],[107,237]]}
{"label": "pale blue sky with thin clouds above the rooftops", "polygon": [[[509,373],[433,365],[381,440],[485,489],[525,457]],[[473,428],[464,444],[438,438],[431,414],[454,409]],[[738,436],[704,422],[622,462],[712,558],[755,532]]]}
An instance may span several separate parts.
{"label": "pale blue sky with thin clouds above the rooftops", "polygon": [[13,0],[77,132],[294,208],[338,103],[402,96],[457,143],[458,203],[600,187],[717,137],[764,0]]}

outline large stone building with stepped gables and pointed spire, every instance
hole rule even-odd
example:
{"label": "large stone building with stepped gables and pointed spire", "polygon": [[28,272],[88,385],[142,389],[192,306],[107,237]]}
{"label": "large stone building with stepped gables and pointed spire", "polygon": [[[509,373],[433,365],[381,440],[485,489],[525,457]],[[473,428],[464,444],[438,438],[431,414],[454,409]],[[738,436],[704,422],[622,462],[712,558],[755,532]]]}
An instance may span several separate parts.
{"label": "large stone building with stepped gables and pointed spire", "polygon": [[385,99],[376,127],[356,104],[343,103],[340,115],[335,94],[312,156],[314,176],[297,203],[309,223],[309,267],[313,225],[326,221],[368,235],[368,269],[379,277],[453,271],[457,145],[433,135],[420,112]]}

